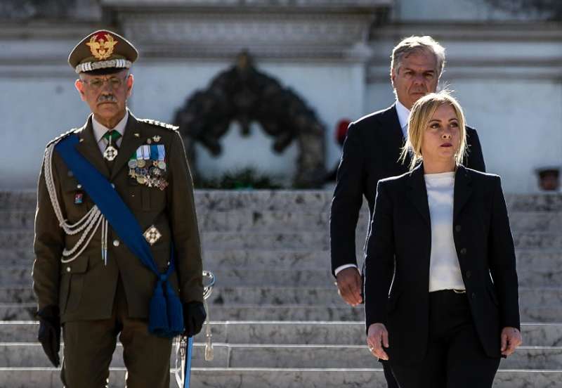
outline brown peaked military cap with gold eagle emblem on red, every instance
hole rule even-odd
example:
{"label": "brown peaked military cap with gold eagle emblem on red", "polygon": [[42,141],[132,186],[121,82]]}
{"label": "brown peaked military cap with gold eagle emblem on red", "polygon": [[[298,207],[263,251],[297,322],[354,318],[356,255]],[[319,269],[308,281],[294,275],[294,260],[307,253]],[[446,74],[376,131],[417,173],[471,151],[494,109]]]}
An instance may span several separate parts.
{"label": "brown peaked military cap with gold eagle emblem on red", "polygon": [[131,42],[115,32],[99,30],[82,39],[68,56],[75,72],[114,72],[129,69],[138,58]]}

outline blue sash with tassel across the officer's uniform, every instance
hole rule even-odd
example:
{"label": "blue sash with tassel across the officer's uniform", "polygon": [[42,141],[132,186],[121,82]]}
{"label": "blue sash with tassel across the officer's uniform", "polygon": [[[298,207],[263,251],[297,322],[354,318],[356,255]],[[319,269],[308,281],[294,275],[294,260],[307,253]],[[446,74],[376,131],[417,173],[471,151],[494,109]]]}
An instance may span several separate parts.
{"label": "blue sash with tassel across the officer's uniform", "polygon": [[155,291],[150,300],[148,331],[159,337],[181,335],[184,331],[182,306],[168,281],[170,274],[174,272],[174,246],[172,245],[167,271],[160,273],[134,214],[105,176],[74,148],[78,141],[78,136],[72,134],[59,141],[55,150],[63,157],[67,167],[72,166],[72,173],[98,205],[119,238],[157,276]]}

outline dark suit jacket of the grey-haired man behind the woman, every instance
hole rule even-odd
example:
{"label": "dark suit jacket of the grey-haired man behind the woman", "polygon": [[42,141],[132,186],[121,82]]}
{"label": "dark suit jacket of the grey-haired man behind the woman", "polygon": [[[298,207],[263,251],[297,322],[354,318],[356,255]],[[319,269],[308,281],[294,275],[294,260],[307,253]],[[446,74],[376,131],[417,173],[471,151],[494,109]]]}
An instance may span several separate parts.
{"label": "dark suit jacket of the grey-haired man behind the woman", "polygon": [[[485,172],[482,148],[476,130],[466,127],[467,158],[464,165]],[[357,264],[355,227],[365,195],[373,213],[377,182],[408,171],[409,161],[398,162],[404,136],[396,105],[374,112],[350,124],[339,164],[330,213],[332,273],[344,264]]]}

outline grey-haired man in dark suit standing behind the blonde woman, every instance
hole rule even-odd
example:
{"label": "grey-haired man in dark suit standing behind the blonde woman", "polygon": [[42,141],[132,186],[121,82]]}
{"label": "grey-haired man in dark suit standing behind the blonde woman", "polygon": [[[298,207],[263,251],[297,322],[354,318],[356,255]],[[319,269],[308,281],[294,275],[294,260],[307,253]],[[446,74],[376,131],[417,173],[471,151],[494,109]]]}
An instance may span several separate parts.
{"label": "grey-haired man in dark suit standing behind the blonde woman", "polygon": [[[436,91],[445,66],[445,48],[429,36],[403,39],[392,51],[391,82],[396,101],[389,108],[361,117],[349,125],[336,177],[329,216],[332,274],[347,304],[362,303],[362,277],[355,257],[355,229],[363,196],[373,214],[377,182],[407,172],[399,162],[407,136],[412,105]],[[476,129],[466,127],[466,167],[485,172]],[[367,233],[368,234],[368,233]],[[398,388],[381,361],[388,388]]]}

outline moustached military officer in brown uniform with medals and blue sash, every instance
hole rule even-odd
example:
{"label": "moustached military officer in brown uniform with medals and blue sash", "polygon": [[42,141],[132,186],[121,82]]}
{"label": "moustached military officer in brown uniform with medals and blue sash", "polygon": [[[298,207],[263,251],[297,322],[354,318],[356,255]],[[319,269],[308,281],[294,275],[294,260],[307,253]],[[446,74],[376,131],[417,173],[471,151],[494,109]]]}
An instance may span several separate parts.
{"label": "moustached military officer in brown uniform with medals and blue sash", "polygon": [[[156,318],[167,319],[158,302],[165,282],[164,297],[180,301],[185,334],[199,332],[206,318],[200,236],[181,135],[177,127],[134,117],[126,106],[133,89],[129,69],[137,57],[136,48],[111,31],[93,32],[74,47],[68,63],[92,114],[83,127],[48,144],[39,176],[33,265],[39,341],[58,366],[62,326],[61,379],[67,388],[107,387],[117,337],[126,387],[169,388],[172,339],[149,327],[155,311]],[[62,144],[70,138],[76,141],[71,151],[97,170],[91,175],[103,185],[85,178],[81,164],[69,165]],[[123,211],[94,201],[113,198],[96,194],[98,186],[115,190],[124,207],[112,205]],[[120,225],[129,211],[133,221]],[[133,226],[141,232],[133,238],[150,247],[145,253],[152,270],[126,240]],[[161,299],[153,297],[158,290]]]}

